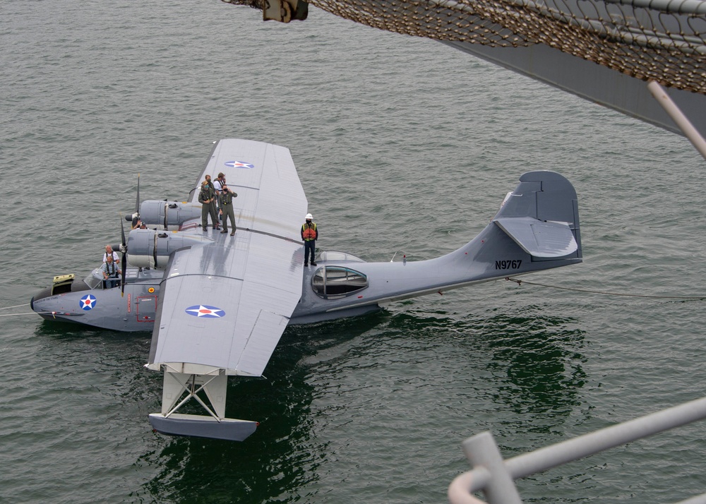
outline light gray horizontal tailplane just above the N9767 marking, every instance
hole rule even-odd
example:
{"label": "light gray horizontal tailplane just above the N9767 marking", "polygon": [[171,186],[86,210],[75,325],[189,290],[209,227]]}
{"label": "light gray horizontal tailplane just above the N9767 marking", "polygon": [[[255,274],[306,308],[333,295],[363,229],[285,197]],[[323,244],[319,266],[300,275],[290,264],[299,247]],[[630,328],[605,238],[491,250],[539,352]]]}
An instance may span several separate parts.
{"label": "light gray horizontal tailplane just above the N9767 marking", "polygon": [[566,222],[544,222],[533,217],[501,217],[493,222],[536,258],[559,258],[578,250]]}

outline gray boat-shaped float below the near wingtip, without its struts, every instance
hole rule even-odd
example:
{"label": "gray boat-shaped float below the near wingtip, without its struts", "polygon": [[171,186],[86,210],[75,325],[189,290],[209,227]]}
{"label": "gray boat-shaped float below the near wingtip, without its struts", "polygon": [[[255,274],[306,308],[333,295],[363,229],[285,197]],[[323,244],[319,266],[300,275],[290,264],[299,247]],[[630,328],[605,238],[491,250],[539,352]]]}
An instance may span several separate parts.
{"label": "gray boat-shaped float below the near wingtip, without its struts", "polygon": [[258,422],[237,419],[215,419],[212,416],[173,413],[164,416],[150,413],[150,424],[155,431],[169,436],[242,441],[258,427]]}

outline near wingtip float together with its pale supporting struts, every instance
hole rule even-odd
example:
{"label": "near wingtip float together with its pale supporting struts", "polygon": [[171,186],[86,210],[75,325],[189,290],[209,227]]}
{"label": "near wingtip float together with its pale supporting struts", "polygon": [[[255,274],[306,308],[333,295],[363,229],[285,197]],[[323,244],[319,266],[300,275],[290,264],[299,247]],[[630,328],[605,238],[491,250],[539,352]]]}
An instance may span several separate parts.
{"label": "near wingtip float together with its pale supporting struts", "polygon": [[[225,418],[227,385],[225,369],[213,368],[213,371],[205,373],[181,373],[165,365],[162,412],[150,414],[152,428],[169,436],[244,440],[255,432],[259,424],[256,421]],[[201,392],[210,402],[210,407],[199,397]],[[201,404],[209,416],[177,413],[177,410],[191,399]]]}

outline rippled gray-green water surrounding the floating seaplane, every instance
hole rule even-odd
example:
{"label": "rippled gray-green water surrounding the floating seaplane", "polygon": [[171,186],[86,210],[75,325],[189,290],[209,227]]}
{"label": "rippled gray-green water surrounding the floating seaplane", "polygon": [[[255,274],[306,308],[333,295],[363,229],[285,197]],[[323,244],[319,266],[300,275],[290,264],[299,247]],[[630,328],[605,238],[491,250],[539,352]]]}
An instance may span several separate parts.
{"label": "rippled gray-green water surrounding the floating seaplane", "polygon": [[[430,40],[218,1],[0,6],[0,307],[84,275],[143,198],[182,198],[217,138],[285,145],[321,248],[367,260],[465,244],[522,172],[580,198],[585,263],[558,287],[705,295],[703,160],[671,133]],[[1,315],[28,313],[27,308]],[[0,501],[433,503],[468,469],[702,397],[703,301],[512,282],[291,328],[232,380],[244,443],[164,438],[150,335],[0,318]],[[517,483],[525,502],[706,491],[693,424]]]}

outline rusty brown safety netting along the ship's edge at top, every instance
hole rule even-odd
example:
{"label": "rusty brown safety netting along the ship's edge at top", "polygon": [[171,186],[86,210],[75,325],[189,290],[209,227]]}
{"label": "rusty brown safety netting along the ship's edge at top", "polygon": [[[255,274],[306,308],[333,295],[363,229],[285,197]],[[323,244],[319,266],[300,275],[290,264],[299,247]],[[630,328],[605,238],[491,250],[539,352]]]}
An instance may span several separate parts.
{"label": "rusty brown safety netting along the ship's edge at top", "polygon": [[[263,8],[263,2],[222,0]],[[294,2],[302,0],[294,0]],[[559,51],[706,94],[702,0],[309,0],[356,23],[417,37]]]}

